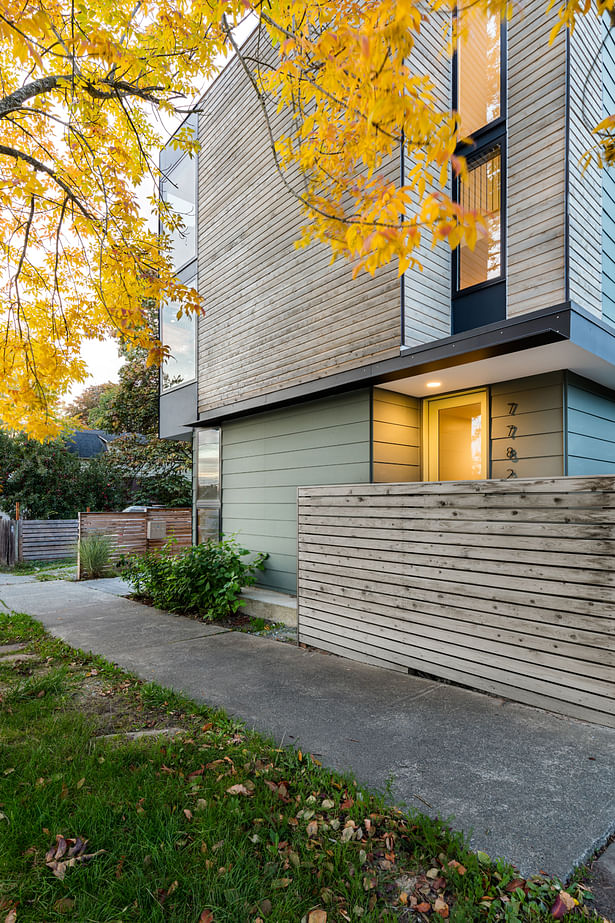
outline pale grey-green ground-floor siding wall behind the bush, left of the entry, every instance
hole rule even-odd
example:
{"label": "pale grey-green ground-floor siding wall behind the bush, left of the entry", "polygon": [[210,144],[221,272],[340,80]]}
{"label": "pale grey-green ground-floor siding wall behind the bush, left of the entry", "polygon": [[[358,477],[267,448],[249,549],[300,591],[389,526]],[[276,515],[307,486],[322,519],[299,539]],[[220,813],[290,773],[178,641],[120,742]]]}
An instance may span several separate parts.
{"label": "pale grey-green ground-floor siding wall behind the bush, left of the entry", "polygon": [[369,480],[367,389],[222,427],[222,530],[269,552],[262,586],[296,592],[297,487]]}

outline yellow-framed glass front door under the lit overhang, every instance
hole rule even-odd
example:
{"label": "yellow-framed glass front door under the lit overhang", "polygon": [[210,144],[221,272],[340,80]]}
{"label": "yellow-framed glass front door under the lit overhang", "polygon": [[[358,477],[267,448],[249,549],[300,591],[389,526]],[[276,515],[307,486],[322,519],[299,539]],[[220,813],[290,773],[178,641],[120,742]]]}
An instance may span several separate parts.
{"label": "yellow-framed glass front door under the lit overhang", "polygon": [[423,407],[423,478],[476,481],[487,477],[486,390],[426,398]]}

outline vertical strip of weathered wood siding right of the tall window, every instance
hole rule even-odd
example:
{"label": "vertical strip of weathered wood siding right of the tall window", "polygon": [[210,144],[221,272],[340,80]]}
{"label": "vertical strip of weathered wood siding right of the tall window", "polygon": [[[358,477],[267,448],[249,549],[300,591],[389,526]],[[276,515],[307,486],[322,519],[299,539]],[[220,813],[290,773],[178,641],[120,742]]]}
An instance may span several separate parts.
{"label": "vertical strip of weathered wood siding right of the tall window", "polygon": [[566,44],[529,0],[508,25],[507,316],[565,300]]}

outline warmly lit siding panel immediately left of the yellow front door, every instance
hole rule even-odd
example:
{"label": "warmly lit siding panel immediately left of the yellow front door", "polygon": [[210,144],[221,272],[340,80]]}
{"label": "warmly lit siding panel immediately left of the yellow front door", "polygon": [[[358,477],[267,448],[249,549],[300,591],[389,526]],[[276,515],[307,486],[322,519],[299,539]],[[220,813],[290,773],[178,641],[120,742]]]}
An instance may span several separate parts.
{"label": "warmly lit siding panel immediately left of the yellow front door", "polygon": [[376,483],[420,481],[420,400],[374,388],[372,416],[372,480]]}

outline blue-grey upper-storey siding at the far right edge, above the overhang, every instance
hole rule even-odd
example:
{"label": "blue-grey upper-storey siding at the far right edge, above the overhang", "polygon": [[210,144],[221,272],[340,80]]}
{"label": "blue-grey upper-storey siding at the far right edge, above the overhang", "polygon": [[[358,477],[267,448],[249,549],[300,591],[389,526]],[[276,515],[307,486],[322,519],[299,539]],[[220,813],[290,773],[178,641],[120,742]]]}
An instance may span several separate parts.
{"label": "blue-grey upper-storey siding at the far right edge, above the overhang", "polygon": [[[605,25],[605,32],[606,32]],[[610,30],[602,53],[604,115],[615,112],[615,36]],[[615,324],[615,168],[602,172],[602,316]]]}

